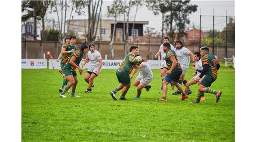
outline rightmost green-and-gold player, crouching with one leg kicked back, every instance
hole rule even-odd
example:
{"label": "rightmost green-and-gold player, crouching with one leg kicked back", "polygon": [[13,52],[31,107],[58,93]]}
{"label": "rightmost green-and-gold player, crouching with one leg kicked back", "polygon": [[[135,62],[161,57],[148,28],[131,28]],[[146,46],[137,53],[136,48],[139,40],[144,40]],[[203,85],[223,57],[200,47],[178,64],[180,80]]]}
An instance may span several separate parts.
{"label": "rightmost green-and-gold player, crouching with one leg kicked back", "polygon": [[[221,91],[212,90],[209,88],[212,83],[217,79],[218,70],[220,69],[220,64],[215,58],[214,55],[209,53],[208,47],[200,48],[201,60],[203,65],[203,70],[199,77],[196,78],[196,81],[200,83],[197,93],[197,98],[191,103],[200,103],[200,98],[203,93],[211,93],[216,95],[216,102],[220,100],[222,95]],[[200,82],[199,80],[205,75],[205,77]]]}

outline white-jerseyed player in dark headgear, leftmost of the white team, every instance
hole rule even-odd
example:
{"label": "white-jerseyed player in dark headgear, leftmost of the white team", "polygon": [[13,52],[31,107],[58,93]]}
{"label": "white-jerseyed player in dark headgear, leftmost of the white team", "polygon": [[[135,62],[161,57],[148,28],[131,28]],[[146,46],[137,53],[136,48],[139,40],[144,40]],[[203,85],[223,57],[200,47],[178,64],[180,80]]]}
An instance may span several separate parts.
{"label": "white-jerseyed player in dark headgear, leftmost of the white team", "polygon": [[[85,93],[90,93],[92,88],[94,87],[94,79],[98,76],[101,71],[102,59],[100,53],[95,49],[94,43],[89,45],[90,51],[87,52],[86,62],[83,64],[85,66],[86,63],[91,61],[90,68],[87,70],[85,74],[85,81],[88,83],[88,88]],[[82,66],[82,67],[83,67]]]}

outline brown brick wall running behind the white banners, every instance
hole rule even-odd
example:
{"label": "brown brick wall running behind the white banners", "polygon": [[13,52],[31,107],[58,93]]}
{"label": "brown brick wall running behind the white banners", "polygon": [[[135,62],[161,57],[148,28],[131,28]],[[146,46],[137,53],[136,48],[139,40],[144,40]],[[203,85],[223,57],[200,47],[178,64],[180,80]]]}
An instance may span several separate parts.
{"label": "brown brick wall running behind the white banners", "polygon": [[[96,50],[98,50],[98,43],[96,42]],[[77,43],[76,46],[79,48],[81,43]],[[130,46],[136,46],[136,44],[130,44]],[[159,46],[157,44],[148,45],[148,44],[139,44],[139,54],[143,58],[147,59],[154,59],[154,55],[158,52]],[[27,41],[28,47],[28,59],[40,59],[43,58],[43,53],[50,50],[54,59],[57,59],[60,52],[62,45],[58,42],[50,42],[44,41],[42,42],[43,52],[41,53],[40,41]],[[192,47],[192,46],[185,46],[189,48],[192,52],[199,51],[199,47]],[[209,47],[210,53],[213,53],[213,48]],[[225,47],[215,47],[214,49],[215,55],[218,56],[218,60],[220,62],[224,62],[225,56]],[[102,59],[105,59],[105,54],[107,54],[107,59],[111,59],[110,56],[110,49],[109,49],[109,42],[102,42],[100,46],[100,52]],[[231,58],[232,55],[235,55],[235,47],[227,47],[227,57]],[[22,41],[22,50],[21,50],[21,57],[22,59],[26,58],[26,48],[25,48],[25,41]],[[114,44],[114,57],[115,59],[124,59],[124,44]],[[46,56],[49,59],[48,56]]]}

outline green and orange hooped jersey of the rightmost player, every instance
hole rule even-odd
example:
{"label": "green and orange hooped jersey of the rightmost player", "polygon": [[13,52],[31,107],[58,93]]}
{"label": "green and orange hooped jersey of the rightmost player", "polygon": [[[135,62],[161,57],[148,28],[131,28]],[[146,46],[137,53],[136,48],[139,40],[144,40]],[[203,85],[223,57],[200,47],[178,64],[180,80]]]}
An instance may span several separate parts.
{"label": "green and orange hooped jersey of the rightmost player", "polygon": [[202,65],[209,65],[209,68],[205,74],[212,76],[214,80],[216,80],[218,75],[217,65],[219,62],[216,60],[215,56],[208,53],[202,56],[201,60]]}

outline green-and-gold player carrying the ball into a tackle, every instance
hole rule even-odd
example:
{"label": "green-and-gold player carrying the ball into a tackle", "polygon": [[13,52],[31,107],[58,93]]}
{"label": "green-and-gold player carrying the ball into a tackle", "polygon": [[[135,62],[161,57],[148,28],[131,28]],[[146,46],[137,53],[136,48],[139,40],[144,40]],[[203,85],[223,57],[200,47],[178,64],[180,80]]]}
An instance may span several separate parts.
{"label": "green-and-gold player carrying the ball into a tackle", "polygon": [[138,47],[131,46],[130,52],[126,55],[124,61],[119,66],[118,70],[116,71],[118,82],[121,83],[117,88],[110,92],[110,95],[114,100],[117,100],[116,93],[122,89],[122,95],[119,97],[122,100],[126,100],[126,93],[130,88],[130,76],[129,74],[134,69],[136,64],[140,64],[141,62],[147,62],[148,60],[142,58],[141,60],[136,59],[135,56],[138,55]]}

